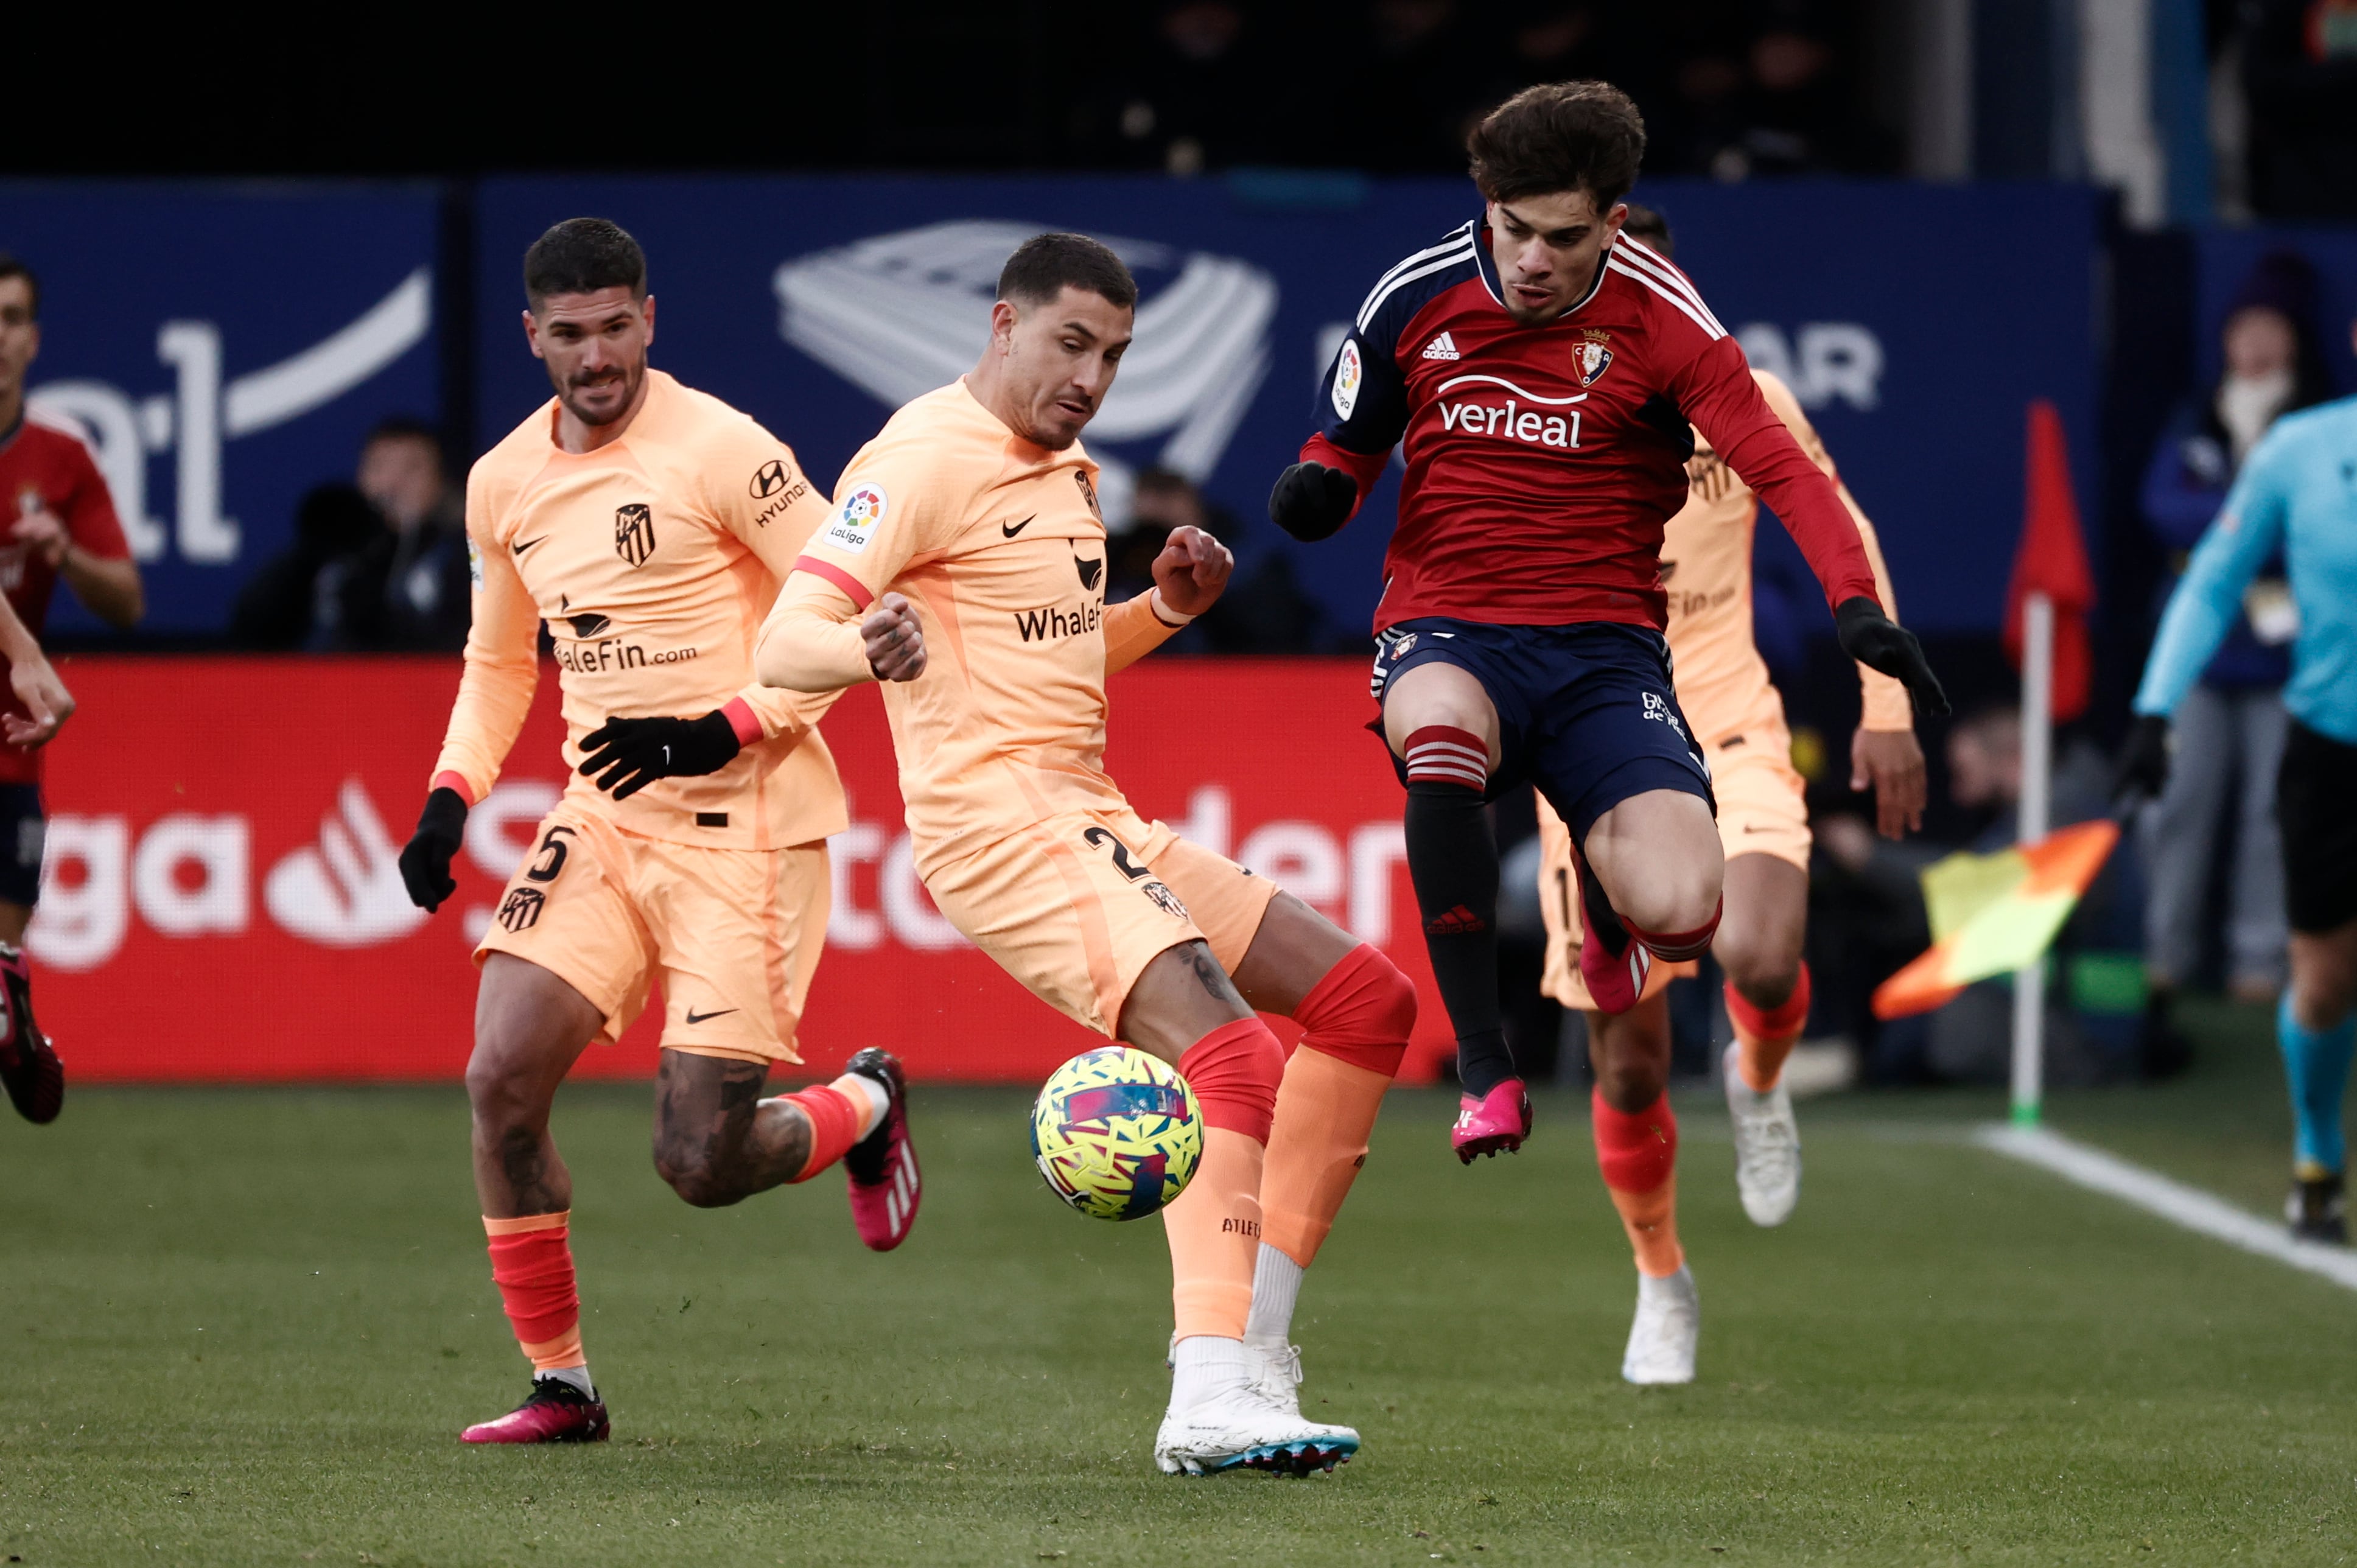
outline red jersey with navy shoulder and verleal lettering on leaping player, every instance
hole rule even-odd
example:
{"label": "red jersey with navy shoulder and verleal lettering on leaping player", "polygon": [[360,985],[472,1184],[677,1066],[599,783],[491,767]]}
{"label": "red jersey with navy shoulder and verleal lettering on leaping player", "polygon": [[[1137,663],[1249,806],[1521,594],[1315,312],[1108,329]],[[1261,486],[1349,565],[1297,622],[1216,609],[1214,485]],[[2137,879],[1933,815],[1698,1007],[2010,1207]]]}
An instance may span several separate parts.
{"label": "red jersey with navy shoulder and verleal lettering on leaping player", "polygon": [[1376,630],[1417,615],[1662,627],[1662,523],[1685,505],[1695,429],[1784,521],[1827,604],[1874,597],[1857,526],[1735,337],[1629,236],[1579,304],[1525,328],[1487,226],[1457,229],[1384,274],[1320,391],[1301,457],[1346,469],[1362,500],[1405,443]]}

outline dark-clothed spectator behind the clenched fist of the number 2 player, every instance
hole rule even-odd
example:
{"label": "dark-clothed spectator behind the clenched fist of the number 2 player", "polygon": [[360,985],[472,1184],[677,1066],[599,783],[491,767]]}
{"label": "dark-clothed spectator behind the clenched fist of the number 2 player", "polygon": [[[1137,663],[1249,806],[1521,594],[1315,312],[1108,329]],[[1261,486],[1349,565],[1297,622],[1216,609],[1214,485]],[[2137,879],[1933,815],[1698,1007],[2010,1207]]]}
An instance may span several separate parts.
{"label": "dark-clothed spectator behind the clenched fist of the number 2 player", "polygon": [[1235,575],[1202,618],[1174,637],[1169,653],[1322,653],[1332,646],[1325,611],[1294,575],[1282,549],[1252,549],[1244,519],[1204,498],[1176,469],[1146,469],[1131,490],[1129,519],[1105,538],[1113,556],[1105,601],[1153,587],[1153,564],[1171,528],[1202,528],[1235,552]]}

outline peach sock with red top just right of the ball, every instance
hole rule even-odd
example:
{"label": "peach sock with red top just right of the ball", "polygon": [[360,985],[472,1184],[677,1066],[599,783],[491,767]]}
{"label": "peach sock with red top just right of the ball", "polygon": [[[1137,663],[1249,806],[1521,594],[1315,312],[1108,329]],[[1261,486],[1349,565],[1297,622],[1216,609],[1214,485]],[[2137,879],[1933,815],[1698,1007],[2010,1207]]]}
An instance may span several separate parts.
{"label": "peach sock with red top just right of the ball", "polygon": [[1223,1023],[1188,1047],[1178,1075],[1202,1106],[1202,1162],[1162,1210],[1178,1339],[1242,1339],[1261,1252],[1261,1165],[1285,1052],[1259,1019]]}

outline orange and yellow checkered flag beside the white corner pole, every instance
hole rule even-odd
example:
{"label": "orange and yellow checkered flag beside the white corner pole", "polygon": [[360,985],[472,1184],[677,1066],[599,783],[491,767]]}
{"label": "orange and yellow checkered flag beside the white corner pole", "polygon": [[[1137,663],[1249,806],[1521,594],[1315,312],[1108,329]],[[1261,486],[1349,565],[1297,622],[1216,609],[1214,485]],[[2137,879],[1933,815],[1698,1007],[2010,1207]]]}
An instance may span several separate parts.
{"label": "orange and yellow checkered flag beside the white corner pole", "polygon": [[2058,828],[2036,844],[1928,865],[1930,950],[1874,988],[1874,1016],[1930,1012],[1973,981],[2034,964],[2114,844],[2119,823],[2102,818]]}

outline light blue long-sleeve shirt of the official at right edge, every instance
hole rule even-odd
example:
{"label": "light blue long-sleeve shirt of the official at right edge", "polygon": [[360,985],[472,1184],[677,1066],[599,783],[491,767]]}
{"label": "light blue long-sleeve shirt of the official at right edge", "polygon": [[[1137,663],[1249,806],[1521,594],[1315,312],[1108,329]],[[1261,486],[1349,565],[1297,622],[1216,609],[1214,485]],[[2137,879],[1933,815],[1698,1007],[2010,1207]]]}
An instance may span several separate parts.
{"label": "light blue long-sleeve shirt of the official at right edge", "polygon": [[2319,736],[2357,745],[2357,398],[2284,415],[2251,448],[2168,597],[2135,712],[2176,712],[2277,552],[2300,613],[2284,707]]}

